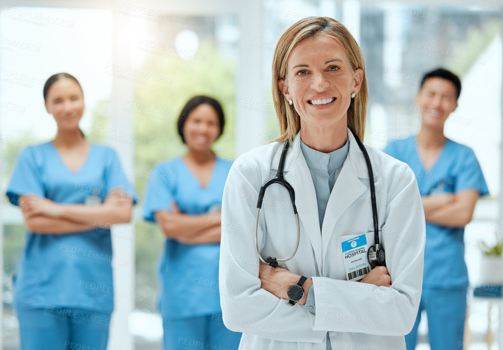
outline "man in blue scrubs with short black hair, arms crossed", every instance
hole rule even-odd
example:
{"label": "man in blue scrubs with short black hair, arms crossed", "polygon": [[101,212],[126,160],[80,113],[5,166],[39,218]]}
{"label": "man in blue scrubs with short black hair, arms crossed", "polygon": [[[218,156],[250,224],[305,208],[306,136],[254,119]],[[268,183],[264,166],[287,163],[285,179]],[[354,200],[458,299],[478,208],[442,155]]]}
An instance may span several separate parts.
{"label": "man in blue scrubs with short black hair, arms crossed", "polygon": [[[414,326],[405,336],[407,350],[415,348],[425,309],[432,350],[459,349],[463,343],[468,288],[464,226],[477,199],[489,192],[473,150],[444,136],[444,122],[456,109],[460,92],[461,81],[452,72],[425,74],[415,98],[423,117],[421,131],[383,150],[414,171],[426,218],[423,293]],[[414,242],[413,232],[400,236],[421,244]]]}

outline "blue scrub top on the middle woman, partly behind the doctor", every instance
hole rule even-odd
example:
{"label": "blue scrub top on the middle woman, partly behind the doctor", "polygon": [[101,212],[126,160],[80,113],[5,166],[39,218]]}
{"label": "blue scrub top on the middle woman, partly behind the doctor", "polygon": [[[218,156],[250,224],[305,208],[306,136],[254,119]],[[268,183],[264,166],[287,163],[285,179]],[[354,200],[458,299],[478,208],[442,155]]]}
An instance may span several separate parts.
{"label": "blue scrub top on the middle woman, partly behind the doctor", "polygon": [[[145,191],[143,217],[155,222],[156,211],[171,212],[171,202],[183,214],[205,214],[222,205],[223,189],[232,163],[216,158],[211,179],[202,188],[182,158],[161,162],[152,170]],[[221,313],[218,290],[220,244],[188,245],[166,239],[157,262],[158,307],[163,318]]]}

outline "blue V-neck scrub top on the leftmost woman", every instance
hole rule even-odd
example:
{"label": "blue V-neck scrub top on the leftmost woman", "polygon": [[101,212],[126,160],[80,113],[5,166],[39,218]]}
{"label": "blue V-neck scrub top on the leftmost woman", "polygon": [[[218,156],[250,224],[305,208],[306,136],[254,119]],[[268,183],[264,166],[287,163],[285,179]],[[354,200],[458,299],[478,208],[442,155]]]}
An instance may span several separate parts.
{"label": "blue V-neck scrub top on the leftmost woman", "polygon": [[[7,196],[36,195],[57,203],[99,203],[122,186],[136,203],[136,192],[126,179],[117,153],[91,143],[88,157],[73,173],[51,142],[21,150]],[[112,254],[110,229],[96,228],[69,234],[26,233],[26,243],[14,276],[14,307],[81,308],[111,312],[114,290],[112,264],[129,261]]]}

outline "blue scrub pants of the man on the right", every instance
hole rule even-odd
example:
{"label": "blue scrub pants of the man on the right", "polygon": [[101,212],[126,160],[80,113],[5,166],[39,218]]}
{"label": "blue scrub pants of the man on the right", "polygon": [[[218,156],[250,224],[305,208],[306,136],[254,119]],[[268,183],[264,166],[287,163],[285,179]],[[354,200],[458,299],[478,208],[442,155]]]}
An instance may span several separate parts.
{"label": "blue scrub pants of the man on the right", "polygon": [[426,309],[431,350],[460,350],[466,318],[466,289],[423,288],[419,311],[410,333],[405,335],[407,350],[414,350],[421,311]]}

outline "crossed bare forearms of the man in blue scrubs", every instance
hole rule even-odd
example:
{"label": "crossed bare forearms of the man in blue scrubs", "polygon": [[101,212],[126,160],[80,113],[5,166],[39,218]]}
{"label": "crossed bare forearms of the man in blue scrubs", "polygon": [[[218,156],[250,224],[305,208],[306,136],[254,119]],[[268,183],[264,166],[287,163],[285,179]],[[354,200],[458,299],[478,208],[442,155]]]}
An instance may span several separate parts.
{"label": "crossed bare forearms of the man in blue scrubs", "polygon": [[422,196],[426,221],[443,226],[465,226],[472,219],[478,197],[477,190]]}

